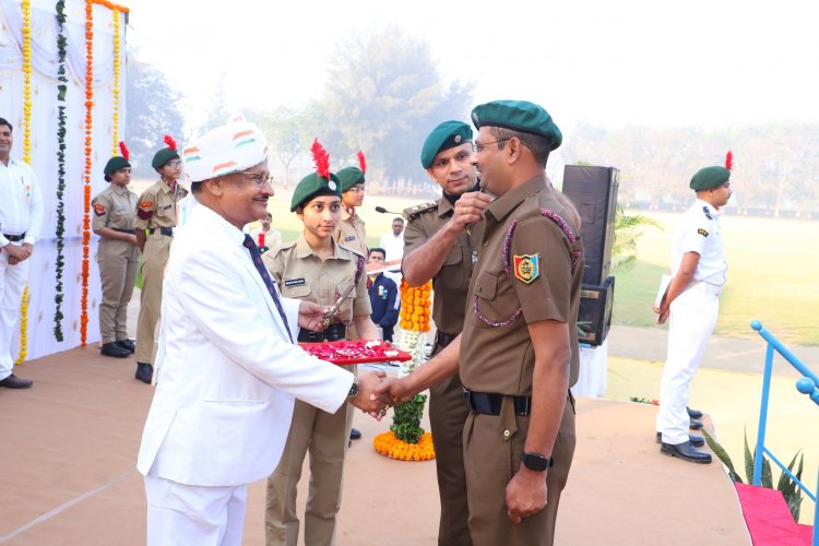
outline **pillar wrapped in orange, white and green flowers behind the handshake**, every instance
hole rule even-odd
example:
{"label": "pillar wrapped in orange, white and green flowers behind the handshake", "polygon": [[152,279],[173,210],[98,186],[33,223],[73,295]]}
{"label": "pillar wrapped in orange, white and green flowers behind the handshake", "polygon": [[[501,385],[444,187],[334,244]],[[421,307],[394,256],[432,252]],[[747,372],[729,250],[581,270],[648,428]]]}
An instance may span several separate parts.
{"label": "pillar wrapped in orange, white and green flowers behind the handshake", "polygon": [[[413,287],[401,280],[401,340],[399,347],[412,355],[401,365],[401,375],[406,376],[427,359],[424,353],[424,334],[429,332],[432,316],[430,294],[432,284]],[[376,436],[372,446],[384,456],[401,461],[431,461],[435,459],[432,435],[420,427],[427,396],[416,394],[394,408],[390,430]]]}

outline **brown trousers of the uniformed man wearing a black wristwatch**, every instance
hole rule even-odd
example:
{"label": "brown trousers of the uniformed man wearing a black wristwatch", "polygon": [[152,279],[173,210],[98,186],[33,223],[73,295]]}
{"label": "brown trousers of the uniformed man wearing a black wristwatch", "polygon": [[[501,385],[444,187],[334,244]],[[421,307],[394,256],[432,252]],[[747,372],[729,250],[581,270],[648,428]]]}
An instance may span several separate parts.
{"label": "brown trousers of the uniformed man wearing a black wristwatch", "polygon": [[[509,402],[509,403],[508,403]],[[541,512],[513,525],[507,517],[506,487],[521,465],[527,416],[515,416],[506,397],[499,416],[471,413],[464,426],[464,465],[470,502],[470,534],[476,546],[551,546],[560,492],[574,455],[574,406],[569,395],[546,475],[547,503]],[[507,438],[505,431],[511,435]]]}

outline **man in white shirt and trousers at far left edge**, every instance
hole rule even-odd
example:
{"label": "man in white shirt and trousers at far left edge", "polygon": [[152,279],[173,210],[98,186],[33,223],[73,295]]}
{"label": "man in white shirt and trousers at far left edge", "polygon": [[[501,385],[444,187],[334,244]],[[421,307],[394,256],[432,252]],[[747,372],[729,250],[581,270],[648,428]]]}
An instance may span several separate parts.
{"label": "man in white shirt and trousers at far left edge", "polygon": [[32,167],[11,157],[12,130],[0,118],[0,387],[27,389],[33,381],[12,373],[11,340],[43,225],[43,195]]}

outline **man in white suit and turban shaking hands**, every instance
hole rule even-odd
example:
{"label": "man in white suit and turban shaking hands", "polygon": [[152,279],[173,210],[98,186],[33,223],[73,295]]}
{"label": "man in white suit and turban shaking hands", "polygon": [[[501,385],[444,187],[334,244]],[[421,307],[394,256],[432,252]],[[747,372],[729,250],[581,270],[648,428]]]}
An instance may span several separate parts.
{"label": "man in white suit and turban shaking hands", "polygon": [[242,227],[273,195],[261,131],[219,127],[183,152],[197,198],[165,276],[156,393],[138,470],[149,545],[239,545],[245,485],[282,455],[294,399],[327,412],[347,401],[383,415],[382,373],[348,371],[294,344],[322,306],[281,298]]}

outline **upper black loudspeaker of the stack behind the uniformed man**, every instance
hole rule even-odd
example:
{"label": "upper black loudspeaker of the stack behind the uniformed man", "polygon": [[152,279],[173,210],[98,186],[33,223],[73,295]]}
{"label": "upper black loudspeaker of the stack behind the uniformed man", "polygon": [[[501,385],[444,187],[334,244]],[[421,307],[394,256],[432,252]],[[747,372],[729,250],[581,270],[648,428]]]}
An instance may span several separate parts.
{"label": "upper black loudspeaker of the stack behind the uniformed man", "polygon": [[585,270],[583,284],[600,286],[612,270],[614,221],[620,171],[614,167],[567,165],[563,194],[580,213]]}

